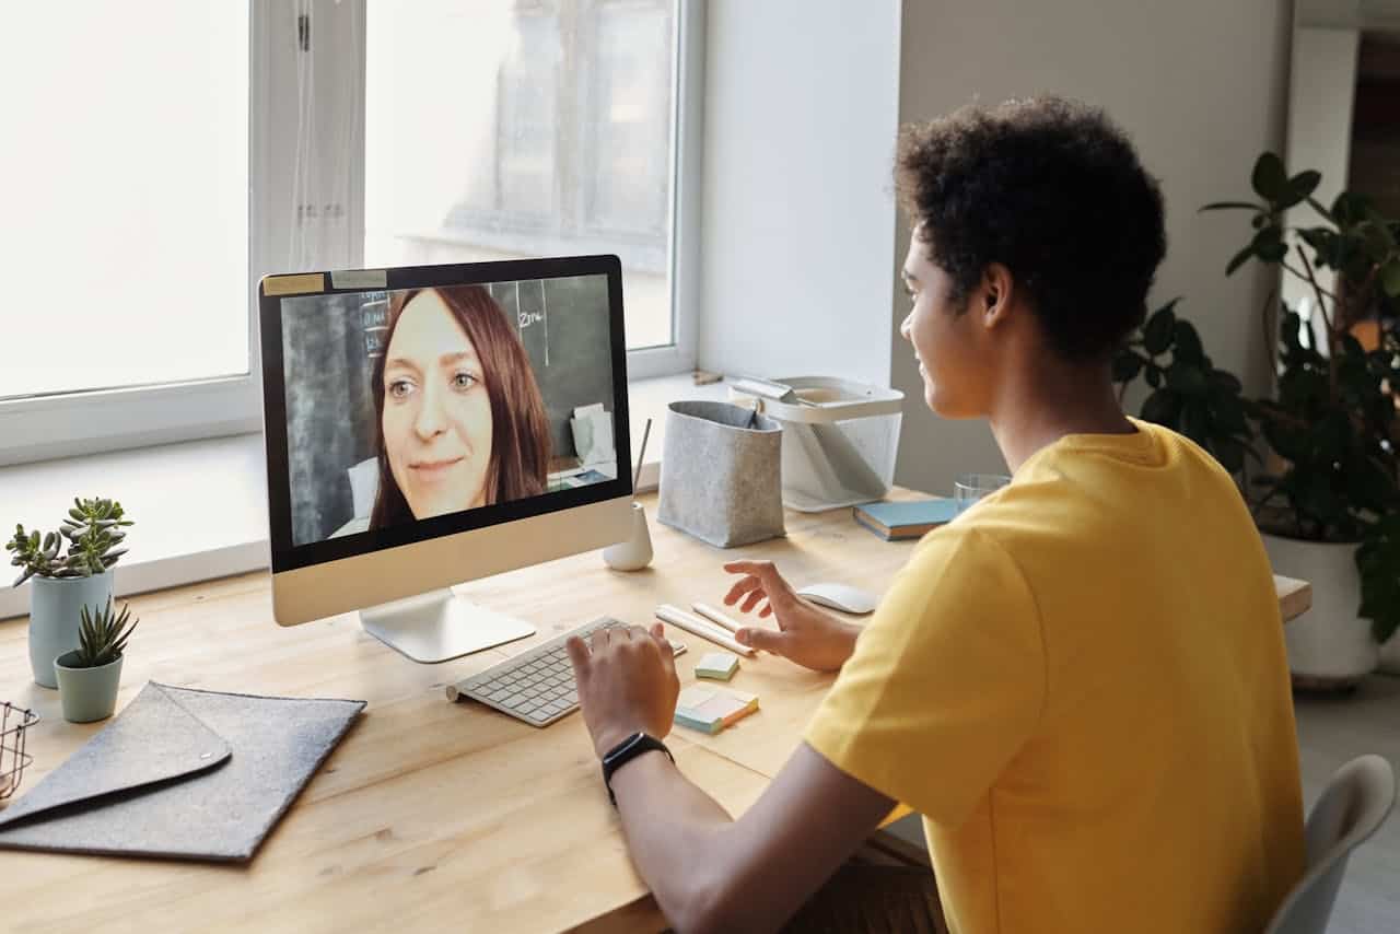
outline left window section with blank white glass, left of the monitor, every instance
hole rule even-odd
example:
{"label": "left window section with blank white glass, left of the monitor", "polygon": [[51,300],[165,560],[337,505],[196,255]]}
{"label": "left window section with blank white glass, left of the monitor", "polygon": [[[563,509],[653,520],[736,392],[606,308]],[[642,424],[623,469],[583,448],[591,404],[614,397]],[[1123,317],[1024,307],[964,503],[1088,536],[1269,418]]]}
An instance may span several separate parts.
{"label": "left window section with blank white glass, left of the monitor", "polygon": [[253,427],[249,8],[24,3],[0,20],[22,36],[0,57],[0,463],[148,434],[195,399],[204,426]]}

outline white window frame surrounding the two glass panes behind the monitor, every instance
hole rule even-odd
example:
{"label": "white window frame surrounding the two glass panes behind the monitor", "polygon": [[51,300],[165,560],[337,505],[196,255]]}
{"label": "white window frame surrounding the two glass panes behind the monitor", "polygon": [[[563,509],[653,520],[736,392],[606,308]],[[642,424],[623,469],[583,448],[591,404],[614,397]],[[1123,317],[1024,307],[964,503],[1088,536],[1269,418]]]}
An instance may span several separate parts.
{"label": "white window frame surrounding the two glass panes behind the monitor", "polygon": [[[248,336],[249,371],[221,377],[151,386],[97,389],[0,402],[0,466],[56,458],[84,456],[105,451],[154,447],[200,438],[262,431],[262,353],[258,336],[258,270],[276,270],[277,244],[286,235],[273,204],[273,172],[286,171],[287,155],[295,151],[295,134],[274,127],[272,76],[298,55],[295,42],[273,28],[277,0],[248,0],[249,4],[249,269]],[[364,22],[365,0],[349,0],[332,7],[326,0],[305,0],[316,15],[358,15]],[[298,4],[300,8],[300,4]],[[295,18],[293,18],[295,22]],[[700,244],[700,160],[703,155],[706,0],[676,0],[673,18],[673,67],[676,106],[672,109],[671,242],[666,265],[671,272],[672,343],[627,351],[629,379],[648,379],[693,370],[699,301]],[[312,36],[316,29],[312,27]],[[343,83],[353,106],[364,106],[365,46],[363,31],[357,43],[322,52],[316,67],[347,69],[358,80]],[[314,41],[314,38],[312,38]],[[291,66],[295,67],[294,64]],[[351,259],[364,256],[364,122],[353,147],[347,235]]]}

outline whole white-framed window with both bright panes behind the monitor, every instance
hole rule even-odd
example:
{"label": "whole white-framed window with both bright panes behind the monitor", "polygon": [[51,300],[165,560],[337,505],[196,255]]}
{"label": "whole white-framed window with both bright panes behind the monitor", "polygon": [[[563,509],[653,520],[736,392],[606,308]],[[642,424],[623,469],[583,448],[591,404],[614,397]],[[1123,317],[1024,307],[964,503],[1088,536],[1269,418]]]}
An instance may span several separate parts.
{"label": "whole white-framed window with both bright panes behind the monitor", "polygon": [[613,252],[630,375],[693,365],[700,0],[50,7],[3,14],[0,463],[258,430],[270,272]]}

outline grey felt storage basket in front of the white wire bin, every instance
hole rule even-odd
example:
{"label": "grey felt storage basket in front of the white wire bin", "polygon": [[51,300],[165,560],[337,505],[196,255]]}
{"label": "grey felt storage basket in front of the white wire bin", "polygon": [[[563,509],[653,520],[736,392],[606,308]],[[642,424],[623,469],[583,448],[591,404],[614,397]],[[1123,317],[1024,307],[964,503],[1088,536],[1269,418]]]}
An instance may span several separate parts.
{"label": "grey felt storage basket in front of the white wire bin", "polygon": [[672,402],[657,520],[718,548],[784,534],[783,428],[727,402]]}

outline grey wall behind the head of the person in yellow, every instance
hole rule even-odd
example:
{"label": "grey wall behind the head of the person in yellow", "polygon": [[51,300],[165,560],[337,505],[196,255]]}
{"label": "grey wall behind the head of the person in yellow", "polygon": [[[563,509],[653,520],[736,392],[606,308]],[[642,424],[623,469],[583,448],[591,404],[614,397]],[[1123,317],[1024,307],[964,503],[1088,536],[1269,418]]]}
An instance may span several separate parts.
{"label": "grey wall behind the head of the person in yellow", "polygon": [[[1249,172],[1282,146],[1291,3],[1288,0],[910,0],[903,10],[900,122],[928,119],[980,98],[1053,91],[1102,105],[1133,136],[1168,204],[1168,256],[1152,302],[1184,295],[1217,365],[1247,391],[1266,385],[1259,312],[1274,283],[1256,267],[1225,279],[1247,241],[1242,214],[1198,214],[1211,200],[1247,196]],[[896,235],[903,258],[907,227]],[[892,265],[886,277],[893,280]],[[935,419],[918,374],[886,316],[892,384],[906,393],[896,479],[949,492],[960,471],[1004,469],[980,423]],[[1155,307],[1155,305],[1154,305]]]}

